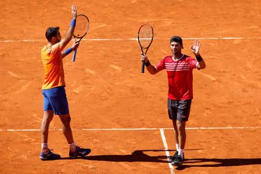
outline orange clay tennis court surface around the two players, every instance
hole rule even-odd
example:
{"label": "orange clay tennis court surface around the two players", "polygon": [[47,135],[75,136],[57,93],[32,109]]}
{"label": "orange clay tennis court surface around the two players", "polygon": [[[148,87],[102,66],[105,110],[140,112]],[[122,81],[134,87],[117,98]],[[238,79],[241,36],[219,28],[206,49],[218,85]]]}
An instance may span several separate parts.
{"label": "orange clay tennis court surface around the two players", "polygon": [[[68,158],[60,119],[50,125],[49,147],[63,158],[41,161],[45,31],[64,36],[72,1],[0,2],[0,173],[261,173],[261,1],[75,1],[90,30],[63,60],[75,142],[91,148]],[[187,160],[168,164],[175,142],[168,120],[166,71],[141,74],[139,26],[155,30],[148,56],[155,65],[200,41],[205,70],[193,71],[187,122]]]}

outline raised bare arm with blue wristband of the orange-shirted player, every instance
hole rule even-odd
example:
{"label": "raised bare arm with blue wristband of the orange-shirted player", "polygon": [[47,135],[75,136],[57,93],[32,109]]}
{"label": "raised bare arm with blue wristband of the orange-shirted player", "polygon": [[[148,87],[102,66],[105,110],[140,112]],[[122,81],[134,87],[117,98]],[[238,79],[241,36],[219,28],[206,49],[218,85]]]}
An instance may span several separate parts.
{"label": "raised bare arm with blue wristband of the orange-shirted player", "polygon": [[76,17],[77,17],[77,7],[72,5],[72,21],[71,21],[69,29],[65,35],[65,38],[63,38],[61,40],[61,42],[59,43],[61,50],[63,50],[66,47],[66,45],[68,45],[70,40],[72,40],[72,35],[74,33],[74,29],[75,29],[75,25],[76,25]]}

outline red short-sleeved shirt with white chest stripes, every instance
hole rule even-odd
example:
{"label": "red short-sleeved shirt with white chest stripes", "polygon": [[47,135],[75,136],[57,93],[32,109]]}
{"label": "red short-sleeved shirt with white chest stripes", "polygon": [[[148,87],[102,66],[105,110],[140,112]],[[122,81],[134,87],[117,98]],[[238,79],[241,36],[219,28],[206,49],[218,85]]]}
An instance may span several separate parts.
{"label": "red short-sleeved shirt with white chest stripes", "polygon": [[171,100],[193,99],[192,70],[198,61],[187,55],[174,61],[173,56],[166,56],[157,65],[157,70],[166,69],[168,74],[168,98]]}

